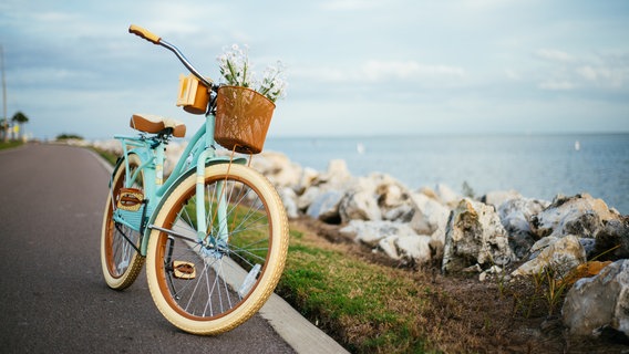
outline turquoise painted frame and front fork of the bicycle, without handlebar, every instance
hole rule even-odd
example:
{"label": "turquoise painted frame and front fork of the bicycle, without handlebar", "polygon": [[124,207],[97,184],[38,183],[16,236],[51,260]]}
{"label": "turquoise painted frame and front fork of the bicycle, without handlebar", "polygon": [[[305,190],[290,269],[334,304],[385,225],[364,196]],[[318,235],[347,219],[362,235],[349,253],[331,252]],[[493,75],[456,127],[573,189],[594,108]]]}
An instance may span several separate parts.
{"label": "turquoise painted frame and front fork of the bicycle, without handlebar", "polygon": [[[186,146],[184,153],[178,159],[177,164],[173,168],[173,171],[168,178],[163,180],[163,168],[165,160],[165,145],[166,139],[153,136],[147,137],[144,134],[140,136],[114,136],[116,139],[121,140],[123,146],[123,156],[116,168],[125,168],[125,188],[132,188],[137,179],[143,176],[143,189],[144,189],[144,200],[143,207],[137,211],[128,211],[116,209],[114,211],[114,220],[116,222],[124,223],[125,226],[142,232],[142,243],[138,249],[142,256],[146,256],[146,249],[148,244],[148,235],[151,233],[151,228],[147,227],[149,221],[153,220],[153,211],[157,209],[163,197],[168,194],[168,191],[174,188],[177,184],[176,181],[186,176],[188,171],[196,170],[197,175],[197,186],[196,186],[196,214],[197,214],[197,241],[204,242],[207,238],[207,225],[205,222],[205,190],[204,190],[204,178],[205,178],[205,167],[213,164],[225,164],[225,163],[237,163],[245,164],[245,158],[231,158],[229,156],[217,156],[214,143],[214,126],[215,116],[212,113],[206,115],[206,122],[199,127],[199,129],[192,137],[190,142]],[[131,147],[131,148],[130,148]],[[131,174],[128,156],[135,154],[140,160],[141,166]],[[194,165],[193,165],[194,164]],[[115,175],[115,174],[114,174]],[[113,176],[113,175],[112,175]],[[110,196],[113,200],[113,196]],[[115,205],[115,202],[113,202]],[[218,220],[225,220],[225,200],[221,198],[218,205]],[[223,221],[221,223],[225,223]],[[218,239],[226,238],[226,225],[219,225],[219,236]],[[214,241],[214,240],[210,240]]]}

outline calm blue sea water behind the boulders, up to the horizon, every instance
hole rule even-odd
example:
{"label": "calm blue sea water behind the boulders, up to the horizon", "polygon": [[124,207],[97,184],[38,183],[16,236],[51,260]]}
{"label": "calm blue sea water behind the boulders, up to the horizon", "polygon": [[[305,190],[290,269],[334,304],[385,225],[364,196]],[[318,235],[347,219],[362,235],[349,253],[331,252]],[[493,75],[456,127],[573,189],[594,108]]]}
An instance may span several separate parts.
{"label": "calm blue sea water behind the boulders, up to the horizon", "polygon": [[265,150],[321,171],[343,159],[354,176],[385,173],[413,189],[463,192],[466,184],[476,197],[514,189],[545,200],[588,192],[629,214],[629,134],[276,137]]}

